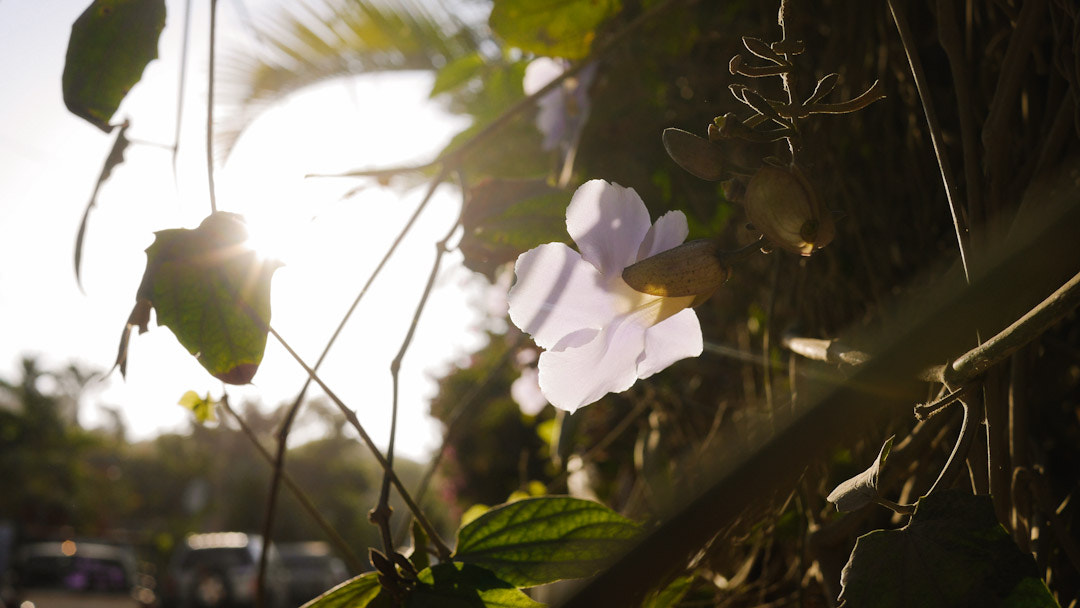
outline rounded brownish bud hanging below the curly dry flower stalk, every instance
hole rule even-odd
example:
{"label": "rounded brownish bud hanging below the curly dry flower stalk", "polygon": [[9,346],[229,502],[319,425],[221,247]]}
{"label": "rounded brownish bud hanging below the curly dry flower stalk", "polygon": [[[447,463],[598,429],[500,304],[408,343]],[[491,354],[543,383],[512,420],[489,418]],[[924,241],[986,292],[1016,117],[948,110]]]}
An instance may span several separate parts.
{"label": "rounded brownish bud hanging below the curly dry flower stalk", "polygon": [[808,256],[836,235],[833,217],[796,167],[762,166],[743,197],[746,216],[778,247]]}

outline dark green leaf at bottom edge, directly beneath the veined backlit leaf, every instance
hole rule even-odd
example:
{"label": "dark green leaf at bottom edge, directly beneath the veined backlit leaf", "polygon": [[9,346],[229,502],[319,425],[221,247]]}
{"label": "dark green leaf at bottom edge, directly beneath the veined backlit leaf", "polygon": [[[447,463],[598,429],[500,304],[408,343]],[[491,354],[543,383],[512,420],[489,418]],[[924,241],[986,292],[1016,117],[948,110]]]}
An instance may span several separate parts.
{"label": "dark green leaf at bottom edge, directly beneath the veined backlit leaf", "polygon": [[408,608],[537,608],[543,606],[494,573],[470,564],[440,564],[417,575]]}

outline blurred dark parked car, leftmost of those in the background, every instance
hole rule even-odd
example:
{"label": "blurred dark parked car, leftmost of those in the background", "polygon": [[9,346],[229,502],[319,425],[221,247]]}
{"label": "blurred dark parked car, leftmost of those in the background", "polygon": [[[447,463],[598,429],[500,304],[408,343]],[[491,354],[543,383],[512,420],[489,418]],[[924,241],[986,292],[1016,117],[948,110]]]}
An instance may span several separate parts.
{"label": "blurred dark parked car, leftmost of those in the background", "polygon": [[15,553],[15,606],[26,608],[143,608],[153,592],[136,584],[130,546],[66,540],[24,544]]}

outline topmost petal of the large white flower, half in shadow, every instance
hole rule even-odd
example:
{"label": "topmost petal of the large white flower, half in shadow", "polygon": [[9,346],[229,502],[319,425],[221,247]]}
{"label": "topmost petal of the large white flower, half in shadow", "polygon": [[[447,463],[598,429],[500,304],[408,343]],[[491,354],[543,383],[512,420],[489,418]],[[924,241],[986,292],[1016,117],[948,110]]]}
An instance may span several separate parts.
{"label": "topmost petal of the large white flower, half in shadow", "polygon": [[566,207],[566,230],[581,257],[608,279],[637,260],[650,226],[649,210],[633,188],[603,179],[582,184]]}

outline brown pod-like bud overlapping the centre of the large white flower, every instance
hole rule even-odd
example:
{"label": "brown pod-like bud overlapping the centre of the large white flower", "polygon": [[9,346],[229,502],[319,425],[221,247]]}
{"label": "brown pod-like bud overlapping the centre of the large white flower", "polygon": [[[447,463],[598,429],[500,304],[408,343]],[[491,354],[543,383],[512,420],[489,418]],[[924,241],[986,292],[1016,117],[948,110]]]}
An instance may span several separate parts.
{"label": "brown pod-like bud overlapping the centre of the large white flower", "polygon": [[652,296],[707,297],[731,275],[723,254],[716,241],[690,241],[626,267],[622,280]]}

